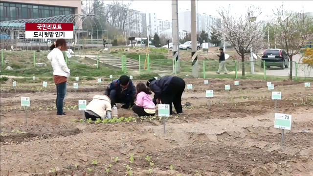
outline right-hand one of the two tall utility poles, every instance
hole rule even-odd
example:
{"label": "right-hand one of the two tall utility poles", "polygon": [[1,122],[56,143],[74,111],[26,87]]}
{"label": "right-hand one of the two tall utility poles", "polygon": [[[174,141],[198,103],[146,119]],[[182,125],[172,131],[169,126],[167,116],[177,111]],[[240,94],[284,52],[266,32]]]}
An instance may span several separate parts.
{"label": "right-hand one of the two tall utility poles", "polygon": [[197,53],[197,20],[196,0],[191,0],[191,59],[192,75],[198,78],[198,53]]}

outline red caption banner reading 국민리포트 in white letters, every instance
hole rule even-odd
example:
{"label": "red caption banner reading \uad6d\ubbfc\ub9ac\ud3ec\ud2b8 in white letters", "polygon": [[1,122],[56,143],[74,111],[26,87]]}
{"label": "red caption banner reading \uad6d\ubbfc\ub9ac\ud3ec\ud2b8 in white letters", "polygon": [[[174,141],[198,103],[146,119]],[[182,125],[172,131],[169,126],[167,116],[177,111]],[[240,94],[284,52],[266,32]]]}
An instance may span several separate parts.
{"label": "red caption banner reading \uad6d\ubbfc\ub9ac\ud3ec\ud2b8 in white letters", "polygon": [[25,31],[73,31],[73,23],[25,23]]}

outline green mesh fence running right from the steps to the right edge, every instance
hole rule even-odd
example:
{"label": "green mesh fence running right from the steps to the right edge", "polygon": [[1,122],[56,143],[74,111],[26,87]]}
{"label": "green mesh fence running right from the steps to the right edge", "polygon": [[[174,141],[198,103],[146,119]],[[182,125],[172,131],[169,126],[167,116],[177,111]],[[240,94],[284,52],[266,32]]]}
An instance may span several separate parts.
{"label": "green mesh fence running right from the steps to the right edge", "polygon": [[[169,74],[169,75],[192,75],[192,66],[191,61],[179,61],[179,71],[174,69],[178,66],[178,63],[172,59],[154,59],[151,60],[149,55],[139,55],[139,74],[145,73],[155,73],[155,74]],[[174,63],[173,63],[174,62]],[[251,64],[252,63],[252,64]],[[174,66],[173,66],[174,64]],[[211,77],[212,74],[216,74],[219,69],[219,62],[213,59],[198,61],[198,74],[201,78]],[[251,73],[251,66],[254,66],[254,73]],[[263,61],[247,61],[247,62],[238,62],[233,60],[226,60],[226,68],[228,71],[228,77],[239,78],[244,73],[246,77],[259,75],[264,79],[267,76],[289,76],[290,75],[290,66],[292,65],[292,78],[298,80],[298,77],[313,77],[312,67],[303,63],[296,62],[275,62],[268,63]],[[288,67],[288,68],[287,68]],[[174,70],[174,71],[173,71]],[[223,74],[223,72],[221,72]],[[219,77],[219,76],[217,76]],[[221,76],[220,76],[221,77]]]}

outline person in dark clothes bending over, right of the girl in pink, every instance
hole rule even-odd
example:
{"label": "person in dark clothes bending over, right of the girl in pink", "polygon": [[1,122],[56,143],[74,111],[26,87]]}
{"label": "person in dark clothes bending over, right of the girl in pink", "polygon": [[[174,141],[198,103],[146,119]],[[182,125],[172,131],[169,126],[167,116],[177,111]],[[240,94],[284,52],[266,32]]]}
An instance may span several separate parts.
{"label": "person in dark clothes bending over, right of the girl in pink", "polygon": [[172,103],[176,112],[182,113],[181,95],[185,89],[185,81],[177,76],[165,76],[156,80],[148,80],[147,87],[155,93],[153,102],[170,105],[170,114],[173,114]]}

